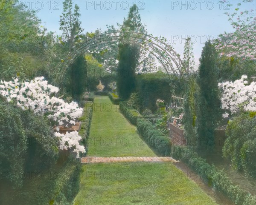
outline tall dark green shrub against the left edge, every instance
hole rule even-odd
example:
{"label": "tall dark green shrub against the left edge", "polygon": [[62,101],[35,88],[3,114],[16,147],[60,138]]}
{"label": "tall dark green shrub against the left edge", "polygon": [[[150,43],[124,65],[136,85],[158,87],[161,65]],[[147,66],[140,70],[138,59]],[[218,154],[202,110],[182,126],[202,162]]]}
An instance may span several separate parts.
{"label": "tall dark green shrub against the left edge", "polygon": [[[4,173],[21,173],[24,171],[28,139],[23,127],[19,109],[12,104],[1,100],[0,111],[0,167],[1,175]],[[11,143],[18,142],[18,143]],[[18,178],[6,179],[14,182],[15,186],[22,186],[23,180]]]}

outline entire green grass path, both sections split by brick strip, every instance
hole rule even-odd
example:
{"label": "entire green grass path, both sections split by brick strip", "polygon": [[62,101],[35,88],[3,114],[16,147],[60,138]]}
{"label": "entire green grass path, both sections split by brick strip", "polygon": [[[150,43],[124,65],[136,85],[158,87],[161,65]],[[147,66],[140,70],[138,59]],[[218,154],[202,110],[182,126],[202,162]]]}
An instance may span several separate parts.
{"label": "entire green grass path, both sections split by brick strip", "polygon": [[[110,111],[107,104],[112,106]],[[156,156],[141,141],[136,127],[105,96],[95,97],[90,138],[93,139],[89,142],[89,156]],[[121,141],[122,138],[127,140]],[[80,190],[74,205],[216,204],[170,162],[85,164],[82,170]]]}

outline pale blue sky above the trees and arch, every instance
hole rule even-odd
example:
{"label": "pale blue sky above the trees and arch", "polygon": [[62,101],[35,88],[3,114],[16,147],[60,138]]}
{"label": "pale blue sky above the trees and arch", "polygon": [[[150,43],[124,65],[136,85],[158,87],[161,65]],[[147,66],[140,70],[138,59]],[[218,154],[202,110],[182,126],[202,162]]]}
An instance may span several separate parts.
{"label": "pale blue sky above the trees and arch", "polygon": [[[20,1],[21,2],[21,1]],[[38,10],[38,17],[42,25],[49,31],[59,31],[59,16],[62,12],[61,0],[24,0],[30,9]],[[219,0],[109,0],[86,1],[73,0],[73,4],[80,7],[81,22],[84,31],[95,31],[106,25],[122,23],[127,17],[129,7],[136,3],[140,9],[142,22],[146,25],[149,34],[164,36],[169,42],[175,43],[177,53],[183,54],[185,38],[191,36],[194,40],[194,53],[196,64],[201,56],[202,47],[207,37],[218,37],[224,31],[232,32],[234,29],[228,22],[225,12],[233,12],[237,3],[242,1],[230,0],[233,6],[221,5]],[[256,1],[242,3],[241,11],[254,9]]]}

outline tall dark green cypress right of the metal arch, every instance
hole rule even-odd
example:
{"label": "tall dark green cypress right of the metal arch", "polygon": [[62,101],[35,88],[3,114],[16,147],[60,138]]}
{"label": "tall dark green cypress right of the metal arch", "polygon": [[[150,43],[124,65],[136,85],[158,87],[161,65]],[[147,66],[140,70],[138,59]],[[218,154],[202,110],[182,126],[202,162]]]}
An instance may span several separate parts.
{"label": "tall dark green cypress right of the metal arch", "polygon": [[203,48],[196,94],[196,129],[198,151],[213,150],[214,131],[221,119],[221,101],[218,89],[217,53],[210,41]]}

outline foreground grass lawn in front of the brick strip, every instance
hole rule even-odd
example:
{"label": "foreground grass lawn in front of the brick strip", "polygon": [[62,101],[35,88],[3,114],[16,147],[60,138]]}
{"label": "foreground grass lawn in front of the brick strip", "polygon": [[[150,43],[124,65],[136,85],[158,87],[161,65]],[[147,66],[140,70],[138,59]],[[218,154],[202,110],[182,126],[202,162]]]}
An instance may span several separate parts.
{"label": "foreground grass lawn in front of the brick strip", "polygon": [[216,204],[198,185],[168,162],[83,165],[74,205]]}

